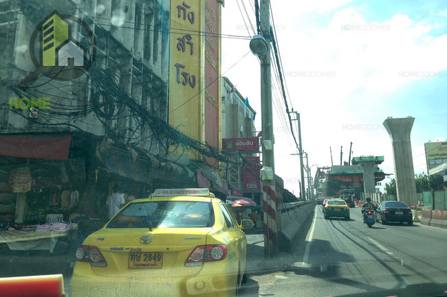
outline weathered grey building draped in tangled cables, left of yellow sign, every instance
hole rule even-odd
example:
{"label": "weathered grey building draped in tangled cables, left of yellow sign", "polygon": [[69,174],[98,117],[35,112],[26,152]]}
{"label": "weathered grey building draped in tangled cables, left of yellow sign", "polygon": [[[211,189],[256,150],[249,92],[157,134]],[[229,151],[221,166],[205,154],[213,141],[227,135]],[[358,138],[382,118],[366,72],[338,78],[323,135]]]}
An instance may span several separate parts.
{"label": "weathered grey building draped in tangled cables, left of yellow sign", "polygon": [[197,187],[166,158],[188,144],[168,125],[170,1],[47,4],[0,3],[0,221],[107,219],[113,185]]}

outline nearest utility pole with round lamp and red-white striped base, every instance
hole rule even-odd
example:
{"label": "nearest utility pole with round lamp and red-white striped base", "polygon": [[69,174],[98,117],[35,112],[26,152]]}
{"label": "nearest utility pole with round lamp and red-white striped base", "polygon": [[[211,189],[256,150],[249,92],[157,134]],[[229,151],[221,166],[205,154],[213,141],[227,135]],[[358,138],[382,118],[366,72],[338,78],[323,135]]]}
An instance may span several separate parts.
{"label": "nearest utility pole with round lamp and red-white striped base", "polygon": [[[252,38],[250,41],[250,49],[261,61],[262,161],[263,167],[270,167],[272,171],[272,179],[262,180],[264,204],[264,256],[265,258],[270,258],[276,257],[279,254],[277,232],[279,228],[281,228],[281,219],[276,215],[277,202],[274,178],[272,72],[270,66],[270,0],[261,0],[260,2],[259,33],[261,36],[258,35]],[[260,38],[263,38],[266,43],[267,51],[263,54],[257,54],[255,52],[257,49],[257,42]]]}

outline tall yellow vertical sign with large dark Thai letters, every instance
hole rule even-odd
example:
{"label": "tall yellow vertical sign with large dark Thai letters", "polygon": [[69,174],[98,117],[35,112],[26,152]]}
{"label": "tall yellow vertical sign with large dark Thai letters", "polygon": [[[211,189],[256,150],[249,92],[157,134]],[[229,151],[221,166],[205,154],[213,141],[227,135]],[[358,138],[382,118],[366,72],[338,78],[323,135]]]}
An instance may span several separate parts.
{"label": "tall yellow vertical sign with large dark Thai letters", "polygon": [[[168,122],[193,139],[203,141],[200,31],[201,1],[171,0]],[[200,158],[197,152],[189,154],[190,158]]]}

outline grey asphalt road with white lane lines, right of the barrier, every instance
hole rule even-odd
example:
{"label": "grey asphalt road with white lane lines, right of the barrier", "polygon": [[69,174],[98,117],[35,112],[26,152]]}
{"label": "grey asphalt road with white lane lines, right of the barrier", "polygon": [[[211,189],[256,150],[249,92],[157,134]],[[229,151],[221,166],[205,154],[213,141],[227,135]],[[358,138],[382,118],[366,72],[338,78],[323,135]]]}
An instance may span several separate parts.
{"label": "grey asphalt road with white lane lines, right of the barrier", "polygon": [[368,228],[360,208],[350,221],[326,220],[317,205],[294,253],[271,261],[280,267],[256,270],[265,260],[250,261],[243,296],[439,296],[447,291],[447,230]]}

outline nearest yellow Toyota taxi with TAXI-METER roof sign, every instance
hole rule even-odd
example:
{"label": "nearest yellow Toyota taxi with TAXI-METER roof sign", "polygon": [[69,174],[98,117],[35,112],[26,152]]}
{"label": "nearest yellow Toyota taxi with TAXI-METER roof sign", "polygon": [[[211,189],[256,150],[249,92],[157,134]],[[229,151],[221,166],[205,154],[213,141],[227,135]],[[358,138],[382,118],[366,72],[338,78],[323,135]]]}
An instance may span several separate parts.
{"label": "nearest yellow Toyota taxi with TAXI-METER roof sign", "polygon": [[72,296],[235,296],[252,227],[209,189],[157,189],[76,249]]}

